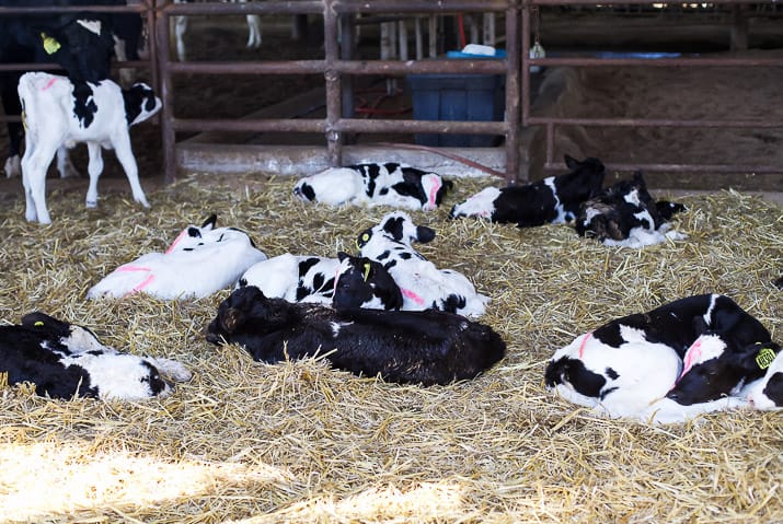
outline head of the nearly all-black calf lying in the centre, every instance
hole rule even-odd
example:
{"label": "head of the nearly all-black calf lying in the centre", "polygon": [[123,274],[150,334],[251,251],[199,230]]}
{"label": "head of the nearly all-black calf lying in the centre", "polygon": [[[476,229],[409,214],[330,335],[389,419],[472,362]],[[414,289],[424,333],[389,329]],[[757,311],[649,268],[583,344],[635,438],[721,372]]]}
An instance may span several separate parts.
{"label": "head of the nearly all-black calf lying in the centre", "polygon": [[207,341],[239,342],[276,331],[290,319],[291,304],[268,299],[255,286],[234,290],[218,306],[218,314],[207,326]]}

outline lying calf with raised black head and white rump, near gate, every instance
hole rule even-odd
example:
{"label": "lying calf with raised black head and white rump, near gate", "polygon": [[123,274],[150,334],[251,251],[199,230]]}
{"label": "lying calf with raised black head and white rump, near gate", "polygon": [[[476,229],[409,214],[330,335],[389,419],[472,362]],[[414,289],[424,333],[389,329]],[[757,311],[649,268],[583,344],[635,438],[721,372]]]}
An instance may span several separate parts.
{"label": "lying calf with raised black head and white rump, near gate", "polygon": [[477,217],[498,223],[531,228],[574,220],[579,205],[601,191],[606,171],[598,159],[579,162],[567,154],[571,170],[525,186],[487,187],[451,208],[450,217]]}

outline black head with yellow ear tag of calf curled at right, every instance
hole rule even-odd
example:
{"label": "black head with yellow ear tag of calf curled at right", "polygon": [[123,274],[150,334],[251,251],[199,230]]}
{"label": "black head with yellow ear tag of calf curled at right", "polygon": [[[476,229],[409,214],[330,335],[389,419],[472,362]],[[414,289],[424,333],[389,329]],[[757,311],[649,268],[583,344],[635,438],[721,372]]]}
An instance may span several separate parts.
{"label": "black head with yellow ear tag of calf curled at right", "polygon": [[780,350],[774,342],[737,345],[707,331],[686,352],[682,373],[666,396],[684,406],[715,400],[760,379]]}

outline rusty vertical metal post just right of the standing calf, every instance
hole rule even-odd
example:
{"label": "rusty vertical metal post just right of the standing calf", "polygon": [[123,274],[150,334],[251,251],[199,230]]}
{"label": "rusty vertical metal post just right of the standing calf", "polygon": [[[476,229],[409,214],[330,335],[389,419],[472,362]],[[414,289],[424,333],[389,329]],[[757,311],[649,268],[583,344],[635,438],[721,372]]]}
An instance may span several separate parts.
{"label": "rusty vertical metal post just right of the standing calf", "polygon": [[176,133],[174,131],[174,94],[169,68],[169,13],[168,0],[157,0],[156,37],[158,40],[158,57],[160,68],[161,140],[163,142],[163,183],[171,184],[176,179]]}

